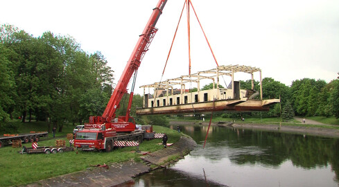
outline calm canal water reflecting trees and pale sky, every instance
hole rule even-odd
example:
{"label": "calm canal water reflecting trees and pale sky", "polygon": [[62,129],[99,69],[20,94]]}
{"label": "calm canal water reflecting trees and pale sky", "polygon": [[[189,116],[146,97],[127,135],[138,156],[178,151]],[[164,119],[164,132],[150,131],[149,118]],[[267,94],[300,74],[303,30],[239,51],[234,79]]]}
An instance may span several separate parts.
{"label": "calm canal water reflecting trees and pale sky", "polygon": [[198,147],[128,186],[339,186],[339,139],[211,126],[203,149],[207,128],[180,125]]}

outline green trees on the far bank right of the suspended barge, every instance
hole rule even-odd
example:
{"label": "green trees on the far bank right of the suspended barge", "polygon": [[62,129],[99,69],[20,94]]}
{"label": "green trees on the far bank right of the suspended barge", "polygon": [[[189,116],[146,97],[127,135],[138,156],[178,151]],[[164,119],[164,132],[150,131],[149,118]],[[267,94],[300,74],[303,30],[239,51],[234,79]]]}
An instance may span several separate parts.
{"label": "green trees on the far bank right of the suspended barge", "polygon": [[[329,83],[303,78],[294,80],[290,86],[272,78],[263,78],[262,84],[263,99],[281,98],[281,105],[274,105],[268,112],[269,116],[280,116],[286,112],[292,116],[339,118],[339,77]],[[251,89],[251,80],[241,81],[241,89]],[[259,90],[259,82],[255,82],[254,89]]]}

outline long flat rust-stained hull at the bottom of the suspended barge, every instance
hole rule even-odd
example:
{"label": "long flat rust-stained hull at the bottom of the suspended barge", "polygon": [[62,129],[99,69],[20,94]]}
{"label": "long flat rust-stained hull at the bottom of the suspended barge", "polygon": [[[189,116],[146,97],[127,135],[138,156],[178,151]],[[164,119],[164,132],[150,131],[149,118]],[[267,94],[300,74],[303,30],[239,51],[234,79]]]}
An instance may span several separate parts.
{"label": "long flat rust-stained hull at the bottom of the suspended barge", "polygon": [[279,103],[279,99],[270,100],[215,100],[202,103],[168,105],[137,109],[137,115],[153,114],[201,114],[209,112],[254,112],[269,111],[270,105]]}

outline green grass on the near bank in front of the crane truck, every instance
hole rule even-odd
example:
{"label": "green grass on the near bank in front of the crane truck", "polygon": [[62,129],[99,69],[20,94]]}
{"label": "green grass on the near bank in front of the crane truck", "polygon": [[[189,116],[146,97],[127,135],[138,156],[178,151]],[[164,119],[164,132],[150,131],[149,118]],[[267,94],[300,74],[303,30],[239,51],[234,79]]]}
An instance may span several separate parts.
{"label": "green grass on the near bank in front of the crane truck", "polygon": [[[166,127],[154,126],[156,132],[168,134],[168,143],[175,143],[182,134]],[[66,132],[64,132],[67,134]],[[62,133],[57,134],[59,137]],[[58,139],[58,138],[56,138]],[[55,145],[56,139],[40,141],[40,146]],[[65,138],[59,138],[64,139]],[[67,141],[68,142],[68,141]],[[139,150],[154,152],[162,149],[162,139],[144,141]],[[25,144],[24,144],[25,145]],[[31,144],[26,144],[30,146]],[[41,179],[77,172],[90,168],[91,165],[123,162],[130,159],[140,161],[140,154],[132,152],[136,147],[118,148],[112,152],[64,152],[58,154],[19,154],[21,148],[6,146],[0,149],[0,184],[1,186],[17,186],[31,184]]]}

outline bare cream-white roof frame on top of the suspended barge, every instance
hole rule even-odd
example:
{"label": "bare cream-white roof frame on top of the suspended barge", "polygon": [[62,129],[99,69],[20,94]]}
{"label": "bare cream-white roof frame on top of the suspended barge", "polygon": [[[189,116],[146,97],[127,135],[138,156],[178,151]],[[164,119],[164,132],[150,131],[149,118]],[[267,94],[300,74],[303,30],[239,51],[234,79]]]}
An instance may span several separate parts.
{"label": "bare cream-white roof frame on top of the suspended barge", "polygon": [[[154,84],[146,84],[141,86],[140,88],[154,88],[154,89],[167,89],[171,88],[173,91],[173,85],[178,84],[181,85],[181,91],[185,89],[185,83],[187,82],[197,82],[198,83],[198,91],[200,91],[200,80],[203,79],[211,79],[213,83],[216,82],[216,87],[219,88],[219,75],[227,75],[232,78],[232,88],[234,88],[234,73],[243,72],[250,73],[252,79],[252,89],[254,89],[254,77],[253,73],[260,73],[260,96],[262,99],[262,86],[261,86],[261,69],[252,66],[239,66],[237,65],[227,65],[227,66],[218,66],[216,69],[210,69],[207,71],[198,71],[198,73],[193,73],[191,75],[182,75],[179,78],[171,78],[162,82],[155,82]],[[214,87],[213,84],[213,87]]]}

